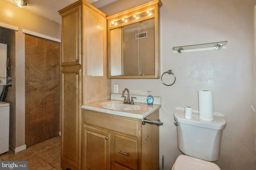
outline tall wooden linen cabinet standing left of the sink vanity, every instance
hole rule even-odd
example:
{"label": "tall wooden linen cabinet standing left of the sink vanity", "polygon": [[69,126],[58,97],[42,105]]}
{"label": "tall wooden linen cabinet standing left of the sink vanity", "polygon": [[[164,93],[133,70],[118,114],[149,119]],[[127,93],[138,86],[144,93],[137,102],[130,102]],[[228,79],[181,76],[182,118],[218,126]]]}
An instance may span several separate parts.
{"label": "tall wooden linen cabinet standing left of the sink vanity", "polygon": [[61,168],[81,169],[82,118],[86,103],[110,99],[106,14],[78,0],[61,16]]}

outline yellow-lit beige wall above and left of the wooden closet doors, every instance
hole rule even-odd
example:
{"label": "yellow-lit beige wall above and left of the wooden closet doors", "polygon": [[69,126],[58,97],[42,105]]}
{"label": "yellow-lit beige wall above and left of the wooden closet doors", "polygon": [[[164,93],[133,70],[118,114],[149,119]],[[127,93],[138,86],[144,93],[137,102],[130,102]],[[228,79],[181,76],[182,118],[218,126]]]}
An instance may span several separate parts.
{"label": "yellow-lit beige wall above and left of the wooden closet doors", "polygon": [[23,29],[36,32],[45,36],[60,39],[60,24],[37,16],[26,11],[26,7],[19,8],[0,0],[0,22],[18,27],[15,36],[16,44],[16,149],[25,144],[25,38]]}

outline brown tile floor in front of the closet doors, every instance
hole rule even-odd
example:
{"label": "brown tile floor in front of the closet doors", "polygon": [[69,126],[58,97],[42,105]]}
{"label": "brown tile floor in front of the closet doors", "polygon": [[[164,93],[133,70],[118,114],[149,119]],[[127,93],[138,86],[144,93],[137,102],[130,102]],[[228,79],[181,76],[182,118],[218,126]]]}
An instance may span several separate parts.
{"label": "brown tile floor in front of the closet doors", "polygon": [[0,161],[26,160],[28,161],[28,170],[61,170],[60,149],[61,139],[60,136],[56,136],[16,154],[12,150],[0,154]]}

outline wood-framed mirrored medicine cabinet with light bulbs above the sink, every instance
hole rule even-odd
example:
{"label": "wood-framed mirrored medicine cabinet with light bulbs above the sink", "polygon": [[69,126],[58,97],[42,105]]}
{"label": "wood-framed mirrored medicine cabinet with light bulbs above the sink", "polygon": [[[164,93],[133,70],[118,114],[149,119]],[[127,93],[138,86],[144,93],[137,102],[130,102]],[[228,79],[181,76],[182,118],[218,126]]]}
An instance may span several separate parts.
{"label": "wood-framed mirrored medicine cabinet with light bulbs above the sink", "polygon": [[108,16],[108,77],[160,77],[160,0]]}

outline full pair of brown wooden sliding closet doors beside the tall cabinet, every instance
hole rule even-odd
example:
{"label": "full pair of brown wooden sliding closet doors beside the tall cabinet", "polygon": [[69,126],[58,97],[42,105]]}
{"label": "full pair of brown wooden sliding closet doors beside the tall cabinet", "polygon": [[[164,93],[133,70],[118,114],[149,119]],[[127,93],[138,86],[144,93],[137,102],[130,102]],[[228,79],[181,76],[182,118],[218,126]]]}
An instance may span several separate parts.
{"label": "full pair of brown wooden sliding closet doors beside the tall cabinet", "polygon": [[25,35],[25,144],[60,130],[60,43]]}

